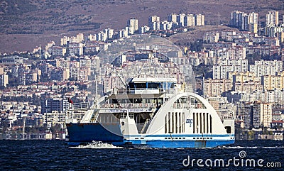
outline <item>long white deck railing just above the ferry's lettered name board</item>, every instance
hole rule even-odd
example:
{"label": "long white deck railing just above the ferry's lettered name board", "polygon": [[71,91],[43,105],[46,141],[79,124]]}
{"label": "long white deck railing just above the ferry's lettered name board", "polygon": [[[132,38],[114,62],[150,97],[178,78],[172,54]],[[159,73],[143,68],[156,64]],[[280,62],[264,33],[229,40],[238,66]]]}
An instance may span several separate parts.
{"label": "long white deck railing just above the ferry's lettered name board", "polygon": [[114,109],[155,109],[155,103],[120,103],[120,104],[99,104],[99,108]]}

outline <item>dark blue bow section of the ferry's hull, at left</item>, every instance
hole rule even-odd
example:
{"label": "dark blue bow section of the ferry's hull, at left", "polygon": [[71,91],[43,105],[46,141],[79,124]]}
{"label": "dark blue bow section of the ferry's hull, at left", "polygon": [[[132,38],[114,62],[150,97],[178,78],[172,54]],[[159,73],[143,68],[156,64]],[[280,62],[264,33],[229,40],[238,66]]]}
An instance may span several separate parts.
{"label": "dark blue bow section of the ferry's hull, at left", "polygon": [[[123,141],[123,136],[112,133],[109,130],[117,130],[119,123],[110,123],[102,126],[100,123],[67,123],[67,131],[70,143],[86,143],[92,141],[115,142]],[[107,127],[107,128],[106,128]]]}

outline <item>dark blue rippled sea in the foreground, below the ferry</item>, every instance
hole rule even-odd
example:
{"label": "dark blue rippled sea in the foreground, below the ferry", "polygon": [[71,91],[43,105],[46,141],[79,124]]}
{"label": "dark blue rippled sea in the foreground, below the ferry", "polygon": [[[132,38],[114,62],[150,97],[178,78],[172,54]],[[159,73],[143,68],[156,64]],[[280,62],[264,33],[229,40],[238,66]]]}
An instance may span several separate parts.
{"label": "dark blue rippled sea in the foreground, below the ferry", "polygon": [[[237,140],[234,145],[191,149],[119,148],[97,142],[70,147],[63,140],[0,140],[0,170],[284,170],[283,159],[284,141],[274,140]],[[253,160],[255,165],[249,165]]]}

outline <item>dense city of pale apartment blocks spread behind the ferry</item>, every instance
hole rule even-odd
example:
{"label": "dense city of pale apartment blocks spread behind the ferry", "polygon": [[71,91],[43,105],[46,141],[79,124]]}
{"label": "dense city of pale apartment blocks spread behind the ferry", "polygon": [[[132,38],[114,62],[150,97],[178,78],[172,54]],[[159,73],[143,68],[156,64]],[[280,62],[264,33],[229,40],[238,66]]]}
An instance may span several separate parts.
{"label": "dense city of pale apartment blocks spread behind the ferry", "polygon": [[[275,18],[273,15],[277,16],[274,11],[268,11],[266,16],[272,19],[266,22],[264,30],[256,31],[253,29],[258,28],[254,26],[258,24],[258,13],[247,14],[241,11],[231,11],[228,13],[228,16],[231,16],[228,20],[231,28],[223,31],[207,31],[202,35],[202,40],[180,45],[180,50],[176,51],[174,57],[170,59],[180,67],[179,71],[175,72],[188,72],[187,66],[190,65],[195,69],[207,66],[206,72],[209,76],[207,75],[201,83],[204,89],[201,88],[199,91],[204,92],[204,97],[216,98],[210,100],[210,103],[214,104],[217,109],[230,102],[234,103],[236,111],[241,111],[238,106],[242,105],[256,104],[256,108],[259,108],[258,104],[260,106],[268,104],[273,110],[277,109],[275,104],[283,106],[284,50],[281,45],[284,41],[284,24],[279,24],[278,21],[276,25],[277,19],[273,19]],[[1,89],[5,92],[1,96],[5,102],[1,101],[1,104],[5,106],[8,118],[11,118],[10,121],[17,121],[21,118],[23,109],[25,109],[24,113],[28,113],[29,116],[43,118],[40,124],[50,122],[48,125],[53,126],[55,124],[53,121],[56,121],[62,125],[64,124],[62,116],[68,104],[67,97],[73,98],[72,100],[76,103],[88,104],[86,87],[94,81],[94,79],[89,79],[89,76],[96,75],[97,79],[104,80],[100,82],[104,85],[104,91],[116,88],[118,82],[121,81],[121,78],[114,73],[116,70],[114,63],[109,62],[106,57],[97,56],[99,52],[111,48],[111,42],[139,33],[170,37],[192,30],[198,31],[205,25],[206,18],[207,16],[200,13],[168,13],[168,21],[164,21],[160,16],[148,16],[148,26],[139,26],[138,18],[129,18],[125,22],[125,28],[119,30],[106,28],[88,35],[77,33],[75,36],[62,36],[60,43],[50,41],[47,45],[40,45],[30,54],[36,62],[21,57],[21,54],[6,55],[2,57],[0,66]],[[119,60],[121,64],[124,64],[126,57],[121,56]],[[212,74],[210,74],[210,68],[212,68]],[[114,77],[104,77],[106,73]],[[182,82],[180,80],[182,79],[178,79],[178,82]],[[44,84],[51,88],[48,89]],[[66,90],[67,84],[75,84],[72,89],[77,91],[75,96],[70,94],[70,89]],[[195,86],[200,87],[198,83]],[[21,92],[16,91],[18,87],[21,87]],[[42,91],[37,92],[38,87],[41,87]],[[192,87],[187,88],[192,89]],[[198,91],[198,88],[194,91]],[[40,98],[41,102],[39,105],[37,101],[38,106],[31,104],[33,107],[30,104],[19,103],[23,105],[20,111],[10,114],[9,109],[13,108],[13,105],[9,103],[11,96],[18,96],[22,99],[24,99],[22,96],[36,97]],[[218,102],[223,97],[226,98],[224,99],[226,102]],[[48,98],[49,102],[43,98]],[[256,103],[256,101],[259,102]],[[237,115],[237,123],[241,128],[263,126],[275,128],[275,124],[283,127],[281,111],[280,118],[277,118],[278,122],[272,119],[275,110],[269,110],[253,118],[256,120],[256,123],[253,123],[250,117],[254,113],[248,113],[249,107],[246,109],[248,111],[239,112]],[[4,115],[4,117],[7,116]],[[80,120],[80,117],[82,113],[79,112],[75,118]],[[12,123],[10,122],[9,125]]]}

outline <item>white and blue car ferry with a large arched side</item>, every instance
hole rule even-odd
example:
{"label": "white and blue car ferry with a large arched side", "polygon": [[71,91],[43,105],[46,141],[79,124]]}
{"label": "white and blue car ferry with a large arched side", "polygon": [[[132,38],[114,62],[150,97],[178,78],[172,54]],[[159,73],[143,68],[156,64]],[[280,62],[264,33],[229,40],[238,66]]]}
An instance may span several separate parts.
{"label": "white and blue car ferry with a large arched side", "polygon": [[66,123],[67,144],[214,148],[234,143],[234,116],[222,120],[209,101],[187,92],[176,75],[150,73],[163,70],[155,57],[139,62],[143,67],[124,88],[114,87],[95,101],[80,123]]}

